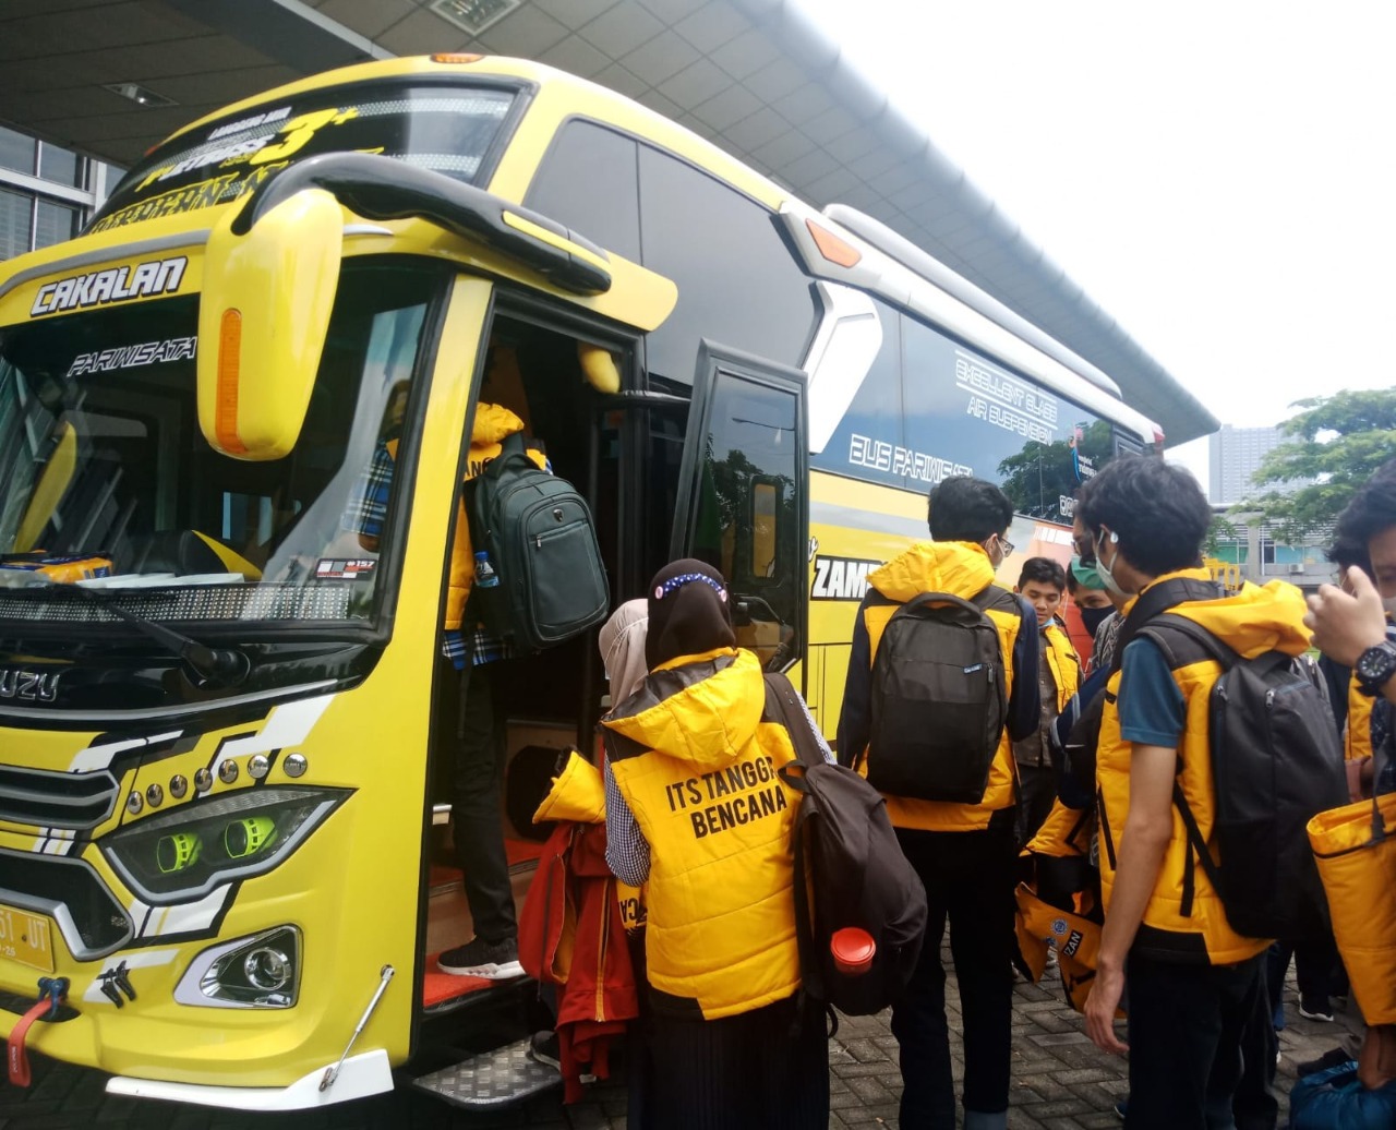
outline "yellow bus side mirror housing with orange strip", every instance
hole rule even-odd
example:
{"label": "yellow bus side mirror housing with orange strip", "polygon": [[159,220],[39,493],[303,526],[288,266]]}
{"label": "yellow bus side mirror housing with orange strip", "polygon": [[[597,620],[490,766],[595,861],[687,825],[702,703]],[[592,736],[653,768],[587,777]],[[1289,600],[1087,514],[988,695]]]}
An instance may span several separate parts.
{"label": "yellow bus side mirror housing with orange strip", "polygon": [[198,425],[215,451],[279,460],[300,437],[339,281],[343,212],[307,189],[208,239],[198,309]]}

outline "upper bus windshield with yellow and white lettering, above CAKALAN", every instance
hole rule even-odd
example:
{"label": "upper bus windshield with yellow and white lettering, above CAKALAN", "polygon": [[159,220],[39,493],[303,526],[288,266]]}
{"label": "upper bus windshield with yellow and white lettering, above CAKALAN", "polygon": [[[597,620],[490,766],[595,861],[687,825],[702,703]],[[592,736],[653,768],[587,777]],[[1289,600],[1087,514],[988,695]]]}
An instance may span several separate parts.
{"label": "upper bus windshield with yellow and white lettering, above CAKALAN", "polygon": [[515,98],[496,87],[376,82],[269,102],[156,148],[121,179],[88,232],[226,204],[327,152],[381,154],[473,184]]}

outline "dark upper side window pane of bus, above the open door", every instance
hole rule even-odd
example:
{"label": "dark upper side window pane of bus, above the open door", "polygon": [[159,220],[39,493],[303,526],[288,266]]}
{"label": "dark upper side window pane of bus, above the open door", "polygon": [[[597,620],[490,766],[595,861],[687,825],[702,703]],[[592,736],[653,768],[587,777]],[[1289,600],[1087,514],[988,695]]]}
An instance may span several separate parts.
{"label": "dark upper side window pane of bus, above the open door", "polygon": [[641,145],[639,218],[645,265],[678,285],[678,306],[649,335],[651,373],[691,383],[699,338],[783,365],[804,360],[814,293],[771,212]]}

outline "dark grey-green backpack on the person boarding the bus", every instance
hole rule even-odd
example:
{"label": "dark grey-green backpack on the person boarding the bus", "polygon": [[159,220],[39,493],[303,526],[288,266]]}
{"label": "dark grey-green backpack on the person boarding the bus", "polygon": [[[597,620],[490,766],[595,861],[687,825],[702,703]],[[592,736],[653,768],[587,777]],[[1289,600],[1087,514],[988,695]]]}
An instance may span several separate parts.
{"label": "dark grey-green backpack on the person boarding the bus", "polygon": [[472,591],[486,627],[540,651],[606,619],[610,589],[592,511],[567,479],[533,464],[521,433],[468,486],[470,541],[500,580]]}

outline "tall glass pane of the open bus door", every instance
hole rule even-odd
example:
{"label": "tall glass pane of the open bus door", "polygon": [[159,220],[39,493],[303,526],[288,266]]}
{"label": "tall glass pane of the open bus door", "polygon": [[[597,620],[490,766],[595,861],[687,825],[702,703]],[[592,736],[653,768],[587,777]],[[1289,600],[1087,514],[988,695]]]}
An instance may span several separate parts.
{"label": "tall glass pane of the open bus door", "polygon": [[719,372],[697,437],[691,553],[727,578],[738,645],[778,668],[799,654],[804,591],[797,412],[793,390]]}

